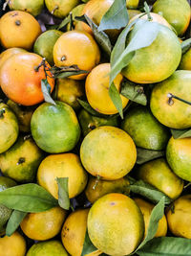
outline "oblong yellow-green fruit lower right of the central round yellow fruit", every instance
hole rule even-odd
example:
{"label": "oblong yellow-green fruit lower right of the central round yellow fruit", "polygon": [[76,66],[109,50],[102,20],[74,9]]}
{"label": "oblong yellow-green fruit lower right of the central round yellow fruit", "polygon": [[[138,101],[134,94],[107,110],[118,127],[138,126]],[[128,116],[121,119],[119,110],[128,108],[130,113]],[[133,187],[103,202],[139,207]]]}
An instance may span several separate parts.
{"label": "oblong yellow-green fruit lower right of the central round yellow fruit", "polygon": [[141,165],[137,176],[172,199],[178,198],[183,189],[183,180],[172,172],[163,158]]}

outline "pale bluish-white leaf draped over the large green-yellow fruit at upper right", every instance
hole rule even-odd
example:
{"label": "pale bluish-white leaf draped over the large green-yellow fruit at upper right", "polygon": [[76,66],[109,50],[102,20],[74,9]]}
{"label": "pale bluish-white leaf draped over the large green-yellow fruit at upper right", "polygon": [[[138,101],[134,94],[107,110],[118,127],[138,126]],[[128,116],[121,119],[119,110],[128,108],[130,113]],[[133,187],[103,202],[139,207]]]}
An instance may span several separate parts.
{"label": "pale bluish-white leaf draped over the large green-yellow fruit at upper right", "polygon": [[159,24],[156,22],[138,19],[132,32],[135,32],[135,35],[130,40],[122,54],[118,55],[116,63],[112,66],[110,72],[110,83],[112,83],[112,81],[117,77],[117,74],[119,74],[120,71],[130,63],[138,49],[148,47],[154,42],[159,33]]}

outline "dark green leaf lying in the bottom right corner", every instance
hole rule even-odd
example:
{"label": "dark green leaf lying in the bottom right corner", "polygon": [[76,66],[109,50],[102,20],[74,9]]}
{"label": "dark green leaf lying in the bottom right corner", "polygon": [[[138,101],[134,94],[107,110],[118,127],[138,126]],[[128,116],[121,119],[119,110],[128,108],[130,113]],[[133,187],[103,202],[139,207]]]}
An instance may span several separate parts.
{"label": "dark green leaf lying in the bottom right corner", "polygon": [[190,256],[191,241],[185,238],[154,238],[137,251],[139,256]]}

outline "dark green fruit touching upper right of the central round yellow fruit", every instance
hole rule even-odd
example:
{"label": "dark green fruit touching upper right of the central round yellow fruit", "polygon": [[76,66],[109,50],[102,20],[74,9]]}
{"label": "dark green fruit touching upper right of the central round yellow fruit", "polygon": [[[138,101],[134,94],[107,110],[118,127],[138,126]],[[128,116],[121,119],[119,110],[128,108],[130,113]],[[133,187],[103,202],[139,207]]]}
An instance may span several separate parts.
{"label": "dark green fruit touching upper right of the central round yellow fruit", "polygon": [[147,150],[164,150],[170,137],[168,128],[162,126],[144,106],[137,106],[127,112],[122,129],[132,137],[136,146]]}

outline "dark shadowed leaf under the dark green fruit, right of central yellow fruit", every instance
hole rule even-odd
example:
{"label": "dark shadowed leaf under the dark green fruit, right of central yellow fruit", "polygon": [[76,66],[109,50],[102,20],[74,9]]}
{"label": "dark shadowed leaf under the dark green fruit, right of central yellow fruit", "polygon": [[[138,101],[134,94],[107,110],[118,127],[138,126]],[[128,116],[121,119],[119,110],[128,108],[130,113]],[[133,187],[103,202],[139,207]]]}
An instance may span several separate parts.
{"label": "dark shadowed leaf under the dark green fruit, right of central yellow fruit", "polygon": [[157,159],[163,155],[165,155],[165,151],[150,151],[150,150],[145,150],[142,148],[137,148],[137,164],[141,165],[143,163],[146,163],[148,161]]}

